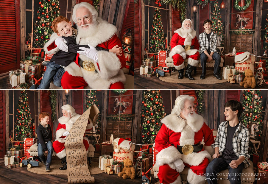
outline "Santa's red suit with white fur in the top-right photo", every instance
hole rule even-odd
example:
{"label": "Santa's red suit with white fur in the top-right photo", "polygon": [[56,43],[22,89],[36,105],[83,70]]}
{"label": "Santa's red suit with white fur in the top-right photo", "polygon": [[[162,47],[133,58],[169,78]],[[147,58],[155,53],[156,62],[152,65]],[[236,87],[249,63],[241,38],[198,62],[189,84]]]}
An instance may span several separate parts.
{"label": "Santa's red suit with white fur in the top-right photo", "polygon": [[[185,50],[183,46],[193,46],[190,50]],[[173,63],[177,70],[183,69],[184,59],[188,58],[188,64],[191,66],[197,66],[199,62],[199,43],[196,37],[196,31],[192,29],[190,33],[183,30],[183,27],[174,31],[174,35],[170,41],[171,51],[167,58],[167,63]]]}

